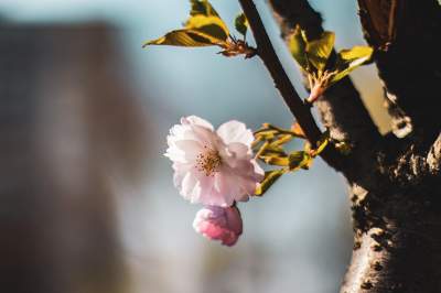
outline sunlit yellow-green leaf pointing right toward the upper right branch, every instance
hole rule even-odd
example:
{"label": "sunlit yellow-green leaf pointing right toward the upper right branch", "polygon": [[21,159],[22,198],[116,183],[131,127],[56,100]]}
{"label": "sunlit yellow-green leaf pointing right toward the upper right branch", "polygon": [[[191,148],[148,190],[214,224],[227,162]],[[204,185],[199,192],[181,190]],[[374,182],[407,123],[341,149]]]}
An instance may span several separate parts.
{"label": "sunlit yellow-green leaf pointing right toward the upper right branch", "polygon": [[352,70],[368,62],[373,53],[374,50],[369,46],[354,46],[338,52],[335,63],[336,74],[330,80],[331,84],[338,82]]}

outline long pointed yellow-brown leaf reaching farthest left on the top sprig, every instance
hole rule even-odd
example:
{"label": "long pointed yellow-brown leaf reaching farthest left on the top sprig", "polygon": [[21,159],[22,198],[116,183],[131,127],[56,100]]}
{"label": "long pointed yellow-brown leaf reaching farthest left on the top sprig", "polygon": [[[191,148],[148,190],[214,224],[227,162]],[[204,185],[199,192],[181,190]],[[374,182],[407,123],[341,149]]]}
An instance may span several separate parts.
{"label": "long pointed yellow-brown leaf reaching farthest left on the top sprig", "polygon": [[176,30],[172,31],[164,36],[146,42],[142,47],[148,45],[171,45],[171,46],[213,46],[219,45],[218,40],[211,37],[209,35],[205,35],[197,31],[192,30]]}

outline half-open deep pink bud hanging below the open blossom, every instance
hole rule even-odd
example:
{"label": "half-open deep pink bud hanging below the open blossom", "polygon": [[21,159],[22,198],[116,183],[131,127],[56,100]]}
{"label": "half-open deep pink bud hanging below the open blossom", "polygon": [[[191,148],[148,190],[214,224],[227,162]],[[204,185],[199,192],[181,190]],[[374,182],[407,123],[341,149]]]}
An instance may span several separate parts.
{"label": "half-open deep pink bud hanging below the open blossom", "polygon": [[206,206],[197,211],[193,228],[211,240],[220,240],[224,246],[234,246],[243,231],[239,209]]}

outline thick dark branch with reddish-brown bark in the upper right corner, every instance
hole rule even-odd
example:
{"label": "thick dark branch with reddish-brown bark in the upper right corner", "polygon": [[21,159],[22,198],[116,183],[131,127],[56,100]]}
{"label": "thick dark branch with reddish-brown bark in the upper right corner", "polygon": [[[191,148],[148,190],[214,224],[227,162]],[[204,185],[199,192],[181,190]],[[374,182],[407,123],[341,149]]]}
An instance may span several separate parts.
{"label": "thick dark branch with reddish-brown bark in the upper right corner", "polygon": [[395,133],[413,129],[431,143],[441,127],[439,109],[430,101],[439,97],[441,83],[441,55],[435,45],[441,6],[437,0],[358,0],[358,4],[365,37],[376,48],[388,109],[397,120]]}

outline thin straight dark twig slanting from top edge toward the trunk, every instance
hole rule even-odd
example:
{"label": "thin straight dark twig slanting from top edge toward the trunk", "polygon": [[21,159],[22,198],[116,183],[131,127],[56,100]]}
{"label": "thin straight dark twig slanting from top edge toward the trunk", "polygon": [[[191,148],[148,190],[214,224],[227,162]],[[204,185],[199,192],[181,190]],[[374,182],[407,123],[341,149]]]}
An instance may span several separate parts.
{"label": "thin straight dark twig slanting from top edge toward the trunk", "polygon": [[320,140],[322,132],[311,115],[310,107],[303,104],[284,72],[252,0],[239,0],[239,2],[255,36],[257,54],[271,74],[276,87],[279,89],[288,108],[303,129],[308,140],[311,144],[315,145]]}

